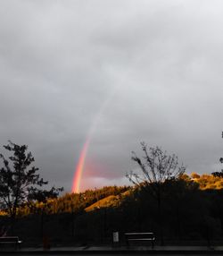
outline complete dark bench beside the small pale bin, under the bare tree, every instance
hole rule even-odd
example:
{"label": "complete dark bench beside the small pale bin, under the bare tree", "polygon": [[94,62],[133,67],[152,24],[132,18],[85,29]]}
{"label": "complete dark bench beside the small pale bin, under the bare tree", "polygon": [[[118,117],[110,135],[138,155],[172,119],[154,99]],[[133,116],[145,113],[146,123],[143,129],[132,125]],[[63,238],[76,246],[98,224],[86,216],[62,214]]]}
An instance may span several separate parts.
{"label": "complete dark bench beside the small pale bin, under the bare tree", "polygon": [[153,232],[125,233],[125,238],[128,246],[129,241],[151,241],[152,248],[154,247],[155,235]]}

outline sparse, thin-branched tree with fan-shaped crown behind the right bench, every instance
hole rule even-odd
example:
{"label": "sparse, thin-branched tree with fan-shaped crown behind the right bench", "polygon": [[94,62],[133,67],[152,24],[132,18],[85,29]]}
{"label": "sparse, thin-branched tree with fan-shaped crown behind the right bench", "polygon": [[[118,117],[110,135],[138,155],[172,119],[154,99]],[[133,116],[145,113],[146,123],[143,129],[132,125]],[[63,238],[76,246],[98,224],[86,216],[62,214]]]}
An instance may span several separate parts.
{"label": "sparse, thin-branched tree with fan-shaped crown behind the right bench", "polygon": [[131,171],[127,174],[127,177],[130,182],[144,187],[157,201],[161,227],[161,244],[163,244],[161,201],[165,184],[169,180],[176,180],[180,175],[183,175],[186,167],[178,165],[178,157],[174,154],[169,156],[166,151],[162,151],[159,147],[148,148],[145,142],[142,142],[141,146],[144,152],[143,159],[138,158],[134,151],[132,152],[132,160],[139,166],[141,175]]}

